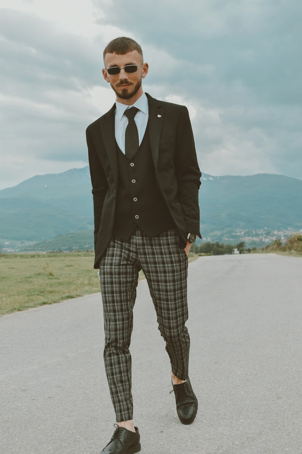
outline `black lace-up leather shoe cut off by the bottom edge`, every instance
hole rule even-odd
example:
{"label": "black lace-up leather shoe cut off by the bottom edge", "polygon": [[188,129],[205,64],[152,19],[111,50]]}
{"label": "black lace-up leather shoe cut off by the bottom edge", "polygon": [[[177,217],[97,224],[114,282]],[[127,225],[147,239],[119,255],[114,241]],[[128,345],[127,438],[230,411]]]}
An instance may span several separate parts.
{"label": "black lace-up leather shoe cut off by the bottom edge", "polygon": [[140,451],[139,429],[134,427],[135,432],[115,425],[114,434],[110,442],[105,446],[100,454],[135,454]]}

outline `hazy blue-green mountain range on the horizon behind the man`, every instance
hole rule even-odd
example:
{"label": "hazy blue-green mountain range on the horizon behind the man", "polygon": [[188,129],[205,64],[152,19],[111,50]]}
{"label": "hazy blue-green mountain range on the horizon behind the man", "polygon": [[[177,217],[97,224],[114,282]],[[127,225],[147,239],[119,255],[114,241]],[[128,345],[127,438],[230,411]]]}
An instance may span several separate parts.
{"label": "hazy blue-green mountain range on the horizon behind the man", "polygon": [[[1,247],[36,243],[42,250],[93,247],[93,205],[89,167],[37,175],[0,191]],[[201,235],[233,242],[246,233],[263,235],[302,228],[302,181],[284,175],[202,174]],[[241,234],[241,236],[240,236]],[[9,244],[9,246],[8,246]]]}

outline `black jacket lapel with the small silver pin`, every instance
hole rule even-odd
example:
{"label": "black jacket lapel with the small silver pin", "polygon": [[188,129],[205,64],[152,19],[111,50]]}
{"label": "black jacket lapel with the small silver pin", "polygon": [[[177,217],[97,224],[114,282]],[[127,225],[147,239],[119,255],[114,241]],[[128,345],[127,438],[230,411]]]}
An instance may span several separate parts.
{"label": "black jacket lapel with the small silver pin", "polygon": [[163,125],[163,109],[160,102],[146,93],[149,104],[149,136],[154,167],[157,168],[160,133]]}

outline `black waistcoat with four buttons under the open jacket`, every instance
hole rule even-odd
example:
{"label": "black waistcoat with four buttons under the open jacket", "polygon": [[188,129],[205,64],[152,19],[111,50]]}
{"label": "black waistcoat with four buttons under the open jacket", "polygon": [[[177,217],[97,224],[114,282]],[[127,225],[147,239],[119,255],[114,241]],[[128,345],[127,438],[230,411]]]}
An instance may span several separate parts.
{"label": "black waistcoat with four buttons under the open jacket", "polygon": [[[115,141],[116,143],[116,141]],[[175,227],[159,191],[147,125],[139,150],[130,160],[116,143],[119,188],[116,195],[113,235],[128,240],[136,227],[148,237]]]}

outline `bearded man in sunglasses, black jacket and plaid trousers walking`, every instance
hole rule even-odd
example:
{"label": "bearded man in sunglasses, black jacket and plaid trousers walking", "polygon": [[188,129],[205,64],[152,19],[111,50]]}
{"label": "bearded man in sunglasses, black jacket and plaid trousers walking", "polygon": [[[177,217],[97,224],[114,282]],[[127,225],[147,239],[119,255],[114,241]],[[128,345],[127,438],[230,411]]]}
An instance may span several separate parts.
{"label": "bearded man in sunglasses, black jacket and plaid trousers walking", "polygon": [[[188,377],[187,256],[199,232],[197,164],[187,108],[145,94],[140,45],[113,39],[103,76],[113,107],[86,129],[105,326],[105,371],[115,432],[102,453],[140,451],[131,394],[130,336],[138,272],[143,269],[166,341],[177,415],[191,424],[197,398]],[[171,391],[172,392],[172,391]]]}

